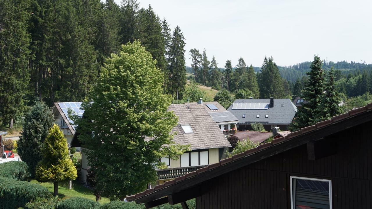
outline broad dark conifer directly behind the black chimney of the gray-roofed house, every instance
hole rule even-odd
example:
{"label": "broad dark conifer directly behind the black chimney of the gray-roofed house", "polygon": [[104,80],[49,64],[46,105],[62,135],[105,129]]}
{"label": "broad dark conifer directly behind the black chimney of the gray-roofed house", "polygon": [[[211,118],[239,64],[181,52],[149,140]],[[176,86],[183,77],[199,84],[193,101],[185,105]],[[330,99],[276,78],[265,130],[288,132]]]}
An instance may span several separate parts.
{"label": "broad dark conifer directly behind the black chimney of the gray-roofed house", "polygon": [[285,97],[282,77],[280,76],[278,66],[275,64],[274,59],[272,57],[269,59],[265,57],[261,69],[262,71],[259,75],[260,97]]}

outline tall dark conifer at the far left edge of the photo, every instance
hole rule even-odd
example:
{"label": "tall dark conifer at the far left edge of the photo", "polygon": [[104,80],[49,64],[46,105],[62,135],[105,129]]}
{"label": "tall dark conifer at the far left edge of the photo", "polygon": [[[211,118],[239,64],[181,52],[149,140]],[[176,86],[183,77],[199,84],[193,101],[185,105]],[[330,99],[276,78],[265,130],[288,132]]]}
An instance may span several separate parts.
{"label": "tall dark conifer at the far left edge of the photo", "polygon": [[29,83],[30,1],[0,0],[0,115],[13,128]]}

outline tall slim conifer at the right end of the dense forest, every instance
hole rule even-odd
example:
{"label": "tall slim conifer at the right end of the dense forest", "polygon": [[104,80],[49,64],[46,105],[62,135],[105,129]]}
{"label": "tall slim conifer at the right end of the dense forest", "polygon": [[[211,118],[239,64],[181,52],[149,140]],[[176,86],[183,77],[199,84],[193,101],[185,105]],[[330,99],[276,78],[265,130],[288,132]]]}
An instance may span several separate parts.
{"label": "tall slim conifer at the right end of the dense forest", "polygon": [[179,26],[174,28],[170,45],[169,81],[169,92],[178,100],[179,93],[185,90],[186,85],[185,37]]}

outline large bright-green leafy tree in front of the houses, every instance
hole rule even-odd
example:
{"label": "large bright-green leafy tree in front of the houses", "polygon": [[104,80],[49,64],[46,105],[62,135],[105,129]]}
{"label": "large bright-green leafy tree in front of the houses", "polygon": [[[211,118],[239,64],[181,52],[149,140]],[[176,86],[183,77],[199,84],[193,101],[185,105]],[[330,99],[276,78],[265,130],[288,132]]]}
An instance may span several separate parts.
{"label": "large bright-green leafy tree in front of the houses", "polygon": [[154,165],[164,165],[159,158],[177,159],[189,148],[172,141],[177,117],[167,112],[172,97],[163,93],[155,63],[140,42],[123,45],[106,59],[94,96],[83,102],[84,118],[72,117],[96,187],[110,199],[141,192],[157,180]]}

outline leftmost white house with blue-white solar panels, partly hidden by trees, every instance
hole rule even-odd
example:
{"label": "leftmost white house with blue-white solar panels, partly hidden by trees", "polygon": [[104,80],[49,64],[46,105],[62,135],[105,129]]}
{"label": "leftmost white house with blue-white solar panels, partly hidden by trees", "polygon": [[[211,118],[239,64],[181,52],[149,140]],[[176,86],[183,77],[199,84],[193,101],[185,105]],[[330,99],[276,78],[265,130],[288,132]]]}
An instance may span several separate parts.
{"label": "leftmost white house with blue-white solar panels, partly hidden by trees", "polygon": [[68,117],[68,110],[72,110],[73,113],[82,116],[84,110],[80,109],[82,102],[55,102],[52,108],[54,114],[55,124],[60,126],[61,131],[67,138],[67,143],[71,144],[72,138],[75,134],[75,126],[73,121]]}

